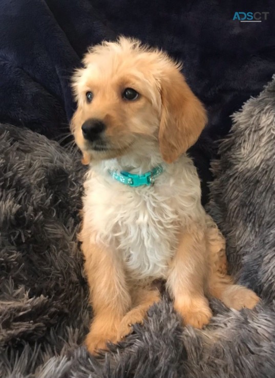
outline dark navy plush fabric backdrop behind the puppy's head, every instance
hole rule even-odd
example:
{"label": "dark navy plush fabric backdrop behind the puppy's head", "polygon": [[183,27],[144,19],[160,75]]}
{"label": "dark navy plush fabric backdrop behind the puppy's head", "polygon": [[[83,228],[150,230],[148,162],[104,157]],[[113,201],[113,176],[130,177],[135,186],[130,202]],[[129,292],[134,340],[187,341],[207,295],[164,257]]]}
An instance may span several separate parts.
{"label": "dark navy plush fabric backdrop behind the puppy's head", "polygon": [[[229,115],[275,72],[275,4],[267,1],[1,0],[0,122],[49,138],[68,131],[69,80],[91,44],[118,34],[139,37],[184,62],[209,122],[192,149],[205,183],[215,141]],[[235,11],[269,11],[262,23],[233,21]],[[204,197],[205,198],[205,197]],[[205,202],[205,199],[204,199]]]}

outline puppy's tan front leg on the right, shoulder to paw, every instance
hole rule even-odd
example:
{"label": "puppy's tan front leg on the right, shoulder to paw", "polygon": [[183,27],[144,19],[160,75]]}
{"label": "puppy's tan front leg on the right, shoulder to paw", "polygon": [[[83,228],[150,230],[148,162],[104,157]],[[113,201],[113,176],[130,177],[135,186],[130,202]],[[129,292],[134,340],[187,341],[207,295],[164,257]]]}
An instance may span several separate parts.
{"label": "puppy's tan front leg on the right, shoulder to paw", "polygon": [[185,231],[167,278],[167,288],[174,298],[174,308],[185,324],[202,328],[212,316],[204,295],[207,276],[205,234],[197,227]]}

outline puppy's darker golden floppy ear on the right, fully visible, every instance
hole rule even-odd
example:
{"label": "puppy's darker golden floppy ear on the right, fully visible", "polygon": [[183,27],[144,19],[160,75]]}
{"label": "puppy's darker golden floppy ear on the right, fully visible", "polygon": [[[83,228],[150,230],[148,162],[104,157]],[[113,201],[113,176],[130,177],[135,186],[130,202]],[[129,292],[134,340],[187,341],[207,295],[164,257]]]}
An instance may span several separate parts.
{"label": "puppy's darker golden floppy ear on the right, fully visible", "polygon": [[174,63],[164,72],[161,102],[159,147],[163,160],[172,163],[197,141],[206,111]]}

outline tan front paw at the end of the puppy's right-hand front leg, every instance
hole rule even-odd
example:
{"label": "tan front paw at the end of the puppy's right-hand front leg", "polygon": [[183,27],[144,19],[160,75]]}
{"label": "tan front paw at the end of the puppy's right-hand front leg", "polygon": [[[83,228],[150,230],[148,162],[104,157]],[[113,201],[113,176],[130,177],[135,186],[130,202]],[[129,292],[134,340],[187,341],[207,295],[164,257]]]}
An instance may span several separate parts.
{"label": "tan front paw at the end of the puppy's right-hand front leg", "polygon": [[206,326],[213,316],[208,301],[204,297],[177,301],[174,308],[182,316],[185,325],[195,328]]}

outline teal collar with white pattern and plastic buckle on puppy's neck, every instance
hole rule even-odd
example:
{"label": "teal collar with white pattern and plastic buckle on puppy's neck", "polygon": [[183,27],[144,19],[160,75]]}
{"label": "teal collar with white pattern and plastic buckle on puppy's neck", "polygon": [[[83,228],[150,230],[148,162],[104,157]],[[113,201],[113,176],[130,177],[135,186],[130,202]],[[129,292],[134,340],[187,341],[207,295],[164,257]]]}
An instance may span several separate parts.
{"label": "teal collar with white pattern and plastic buckle on puppy's neck", "polygon": [[153,185],[156,177],[158,177],[163,172],[162,165],[158,165],[153,168],[152,171],[146,172],[144,174],[134,174],[129,172],[118,172],[115,170],[108,170],[111,176],[120,183],[124,185],[129,185],[133,187],[142,186],[142,185]]}

